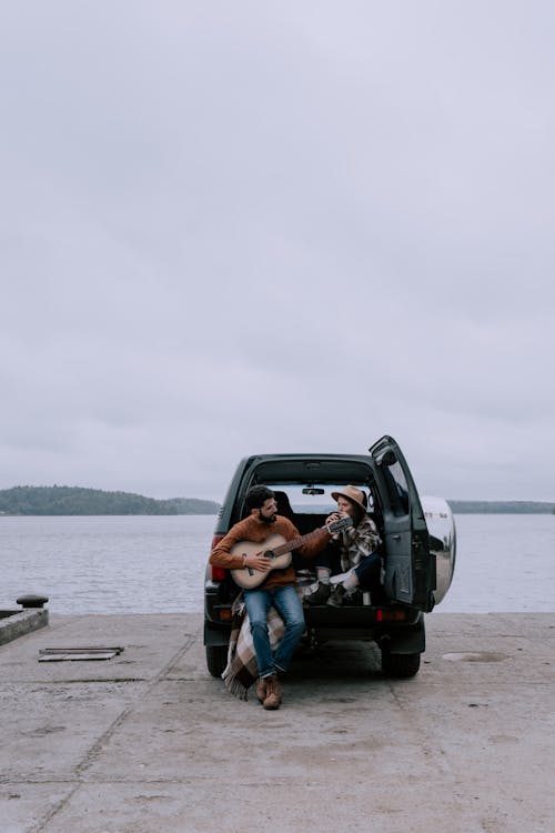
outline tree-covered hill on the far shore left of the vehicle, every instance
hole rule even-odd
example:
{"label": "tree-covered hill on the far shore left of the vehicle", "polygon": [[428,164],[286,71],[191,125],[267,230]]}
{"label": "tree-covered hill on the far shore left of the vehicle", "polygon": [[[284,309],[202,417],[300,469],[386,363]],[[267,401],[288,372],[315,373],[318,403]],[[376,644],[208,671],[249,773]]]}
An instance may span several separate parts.
{"label": "tree-covered hill on the far shore left of the vehicle", "polygon": [[220,505],[200,498],[157,500],[131,492],[81,486],[13,486],[0,490],[4,515],[211,515]]}

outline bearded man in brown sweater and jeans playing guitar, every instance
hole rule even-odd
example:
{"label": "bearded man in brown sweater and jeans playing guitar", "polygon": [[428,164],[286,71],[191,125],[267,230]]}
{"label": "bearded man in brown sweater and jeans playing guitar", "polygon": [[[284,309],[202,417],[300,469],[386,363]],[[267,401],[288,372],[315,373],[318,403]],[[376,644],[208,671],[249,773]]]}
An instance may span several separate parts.
{"label": "bearded man in brown sweater and jeans playing guitar", "polygon": [[[303,605],[295,589],[296,576],[293,566],[271,570],[272,560],[263,552],[263,542],[274,533],[285,541],[299,538],[299,530],[286,518],[278,514],[275,495],[265,485],[252,486],[245,498],[248,518],[240,521],[220,541],[210,555],[210,563],[229,570],[249,568],[268,573],[259,586],[244,590],[244,603],[251,624],[251,633],[259,666],[256,696],[264,709],[279,709],[281,685],[278,673],[289,669],[293,652],[304,631]],[[321,536],[310,544],[300,546],[303,558],[313,558],[330,540],[323,530]],[[261,549],[250,554],[233,554],[231,551],[241,541],[260,543]],[[251,548],[252,549],[252,548]],[[268,611],[274,606],[283,619],[285,632],[275,653],[270,644]]]}

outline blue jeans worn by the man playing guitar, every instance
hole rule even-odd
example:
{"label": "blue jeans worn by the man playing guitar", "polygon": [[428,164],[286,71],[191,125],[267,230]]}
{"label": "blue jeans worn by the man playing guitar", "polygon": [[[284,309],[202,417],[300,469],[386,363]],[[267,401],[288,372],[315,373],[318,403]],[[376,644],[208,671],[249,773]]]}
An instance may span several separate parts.
{"label": "blue jeans worn by the man playing guitar", "polygon": [[[286,671],[301,634],[304,631],[303,605],[294,586],[244,591],[244,603],[256,653],[260,676],[270,676],[276,671]],[[285,633],[275,654],[270,645],[268,611],[274,606],[285,623]]]}

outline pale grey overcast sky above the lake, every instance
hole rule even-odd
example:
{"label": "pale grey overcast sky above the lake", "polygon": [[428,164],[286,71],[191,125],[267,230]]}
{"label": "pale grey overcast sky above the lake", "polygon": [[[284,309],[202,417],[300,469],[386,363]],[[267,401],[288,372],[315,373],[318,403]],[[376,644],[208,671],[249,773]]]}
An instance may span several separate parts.
{"label": "pale grey overcast sky above the lake", "polygon": [[555,501],[551,2],[3,0],[0,488]]}

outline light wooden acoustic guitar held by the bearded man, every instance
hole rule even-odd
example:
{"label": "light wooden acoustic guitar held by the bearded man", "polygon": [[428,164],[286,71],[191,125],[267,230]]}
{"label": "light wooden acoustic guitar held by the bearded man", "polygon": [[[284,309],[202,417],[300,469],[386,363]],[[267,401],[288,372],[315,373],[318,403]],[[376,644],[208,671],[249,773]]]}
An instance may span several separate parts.
{"label": "light wooden acoustic guitar held by the bearded man", "polygon": [[283,570],[291,564],[291,552],[296,550],[297,546],[302,546],[310,541],[315,541],[319,538],[330,531],[339,532],[339,530],[345,529],[345,526],[352,526],[352,518],[342,518],[341,521],[334,521],[330,526],[320,526],[317,530],[309,532],[306,535],[300,535],[291,541],[285,541],[283,535],[275,532],[273,535],[269,535],[262,543],[254,543],[253,541],[240,541],[231,548],[232,555],[255,555],[263,553],[266,559],[271,560],[270,570],[262,572],[261,570],[253,570],[252,566],[240,566],[235,570],[231,570],[233,581],[239,584],[243,590],[253,590],[259,584],[268,579],[269,573],[272,570]]}

